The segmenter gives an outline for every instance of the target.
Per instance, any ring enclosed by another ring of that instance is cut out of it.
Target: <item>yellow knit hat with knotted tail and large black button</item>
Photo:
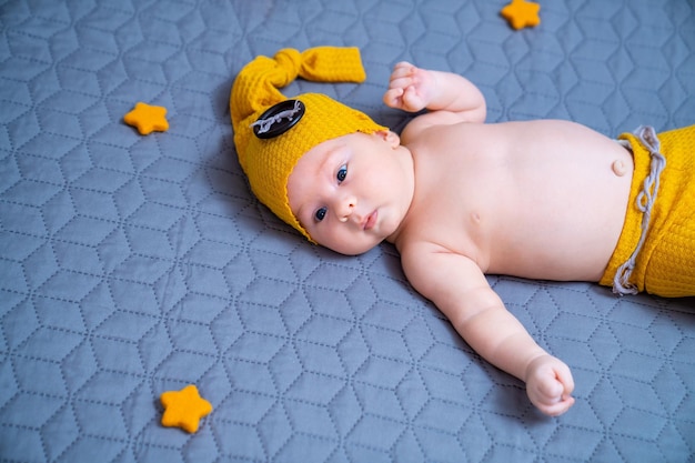
[[[232,85],[230,111],[239,162],[258,199],[313,242],[288,199],[288,179],[313,147],[355,132],[387,130],[366,114],[325,94],[304,93],[288,100],[278,89],[296,77],[318,82],[363,82],[356,48],[318,47],[280,50],[258,57]]]

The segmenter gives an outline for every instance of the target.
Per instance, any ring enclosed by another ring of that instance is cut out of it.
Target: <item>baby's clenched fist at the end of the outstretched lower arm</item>
[[[542,355],[526,369],[526,394],[543,413],[557,416],[574,405],[570,368],[552,355]]]

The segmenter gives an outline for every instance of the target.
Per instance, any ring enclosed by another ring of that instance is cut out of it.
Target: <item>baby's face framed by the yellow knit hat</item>
[[[412,184],[410,152],[395,133],[352,133],[306,152],[290,174],[288,195],[314,241],[352,255],[397,230],[410,208]]]

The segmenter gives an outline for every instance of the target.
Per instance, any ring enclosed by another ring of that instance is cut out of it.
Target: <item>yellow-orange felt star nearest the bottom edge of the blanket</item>
[[[164,392],[160,401],[164,406],[162,425],[178,426],[190,433],[198,431],[200,419],[212,412],[212,405],[200,396],[194,384],[181,391]]]

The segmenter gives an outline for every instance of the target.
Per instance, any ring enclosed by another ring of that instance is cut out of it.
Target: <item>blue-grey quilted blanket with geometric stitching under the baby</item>
[[[465,74],[491,121],[695,122],[693,0],[0,0],[1,462],[695,461],[695,300],[490,276],[573,369],[542,416],[384,244],[316,248],[251,194],[229,92],[258,54],[356,46],[298,81],[396,131],[393,64]],[[169,130],[123,123],[138,101]],[[695,153],[694,153],[695,155]],[[160,394],[195,384],[195,433]]]

